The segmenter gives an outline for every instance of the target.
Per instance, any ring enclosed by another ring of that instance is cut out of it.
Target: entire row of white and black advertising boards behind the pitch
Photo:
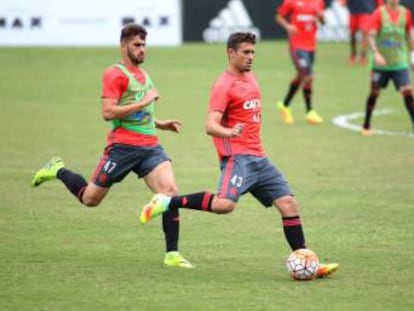
[[[320,41],[348,40],[348,11],[326,0],[327,25]],[[262,39],[284,39],[275,24],[282,0],[1,0],[0,46],[116,46],[119,30],[136,22],[150,32],[148,45],[223,42],[248,30]],[[414,0],[401,0],[414,12]]]

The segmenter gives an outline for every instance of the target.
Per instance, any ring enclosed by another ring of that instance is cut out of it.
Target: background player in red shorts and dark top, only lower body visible
[[[376,6],[383,4],[383,0],[340,0],[349,10],[349,42],[350,56],[349,62],[357,62],[357,33],[361,34],[361,47],[359,50],[359,62],[367,63],[368,33],[371,22],[371,13]]]

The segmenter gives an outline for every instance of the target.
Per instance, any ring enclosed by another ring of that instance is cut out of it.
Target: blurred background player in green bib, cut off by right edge
[[[366,102],[362,134],[369,136],[371,117],[381,88],[392,80],[401,92],[414,129],[414,106],[410,77],[410,63],[414,68],[414,40],[412,14],[400,0],[385,0],[372,15],[369,45],[374,54],[371,71],[371,91]]]

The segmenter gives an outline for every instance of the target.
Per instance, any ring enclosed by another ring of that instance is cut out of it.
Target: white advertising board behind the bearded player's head
[[[182,43],[180,0],[1,0],[0,46],[115,46],[128,22],[148,45]]]

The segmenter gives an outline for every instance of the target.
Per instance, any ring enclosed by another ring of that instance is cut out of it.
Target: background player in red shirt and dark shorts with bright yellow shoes
[[[323,122],[322,117],[312,107],[312,68],[317,23],[324,23],[323,11],[323,0],[284,0],[276,12],[276,22],[287,32],[290,55],[296,68],[296,75],[289,84],[284,100],[277,103],[280,116],[287,124],[294,122],[290,104],[300,87],[303,88],[306,120],[311,124]]]

